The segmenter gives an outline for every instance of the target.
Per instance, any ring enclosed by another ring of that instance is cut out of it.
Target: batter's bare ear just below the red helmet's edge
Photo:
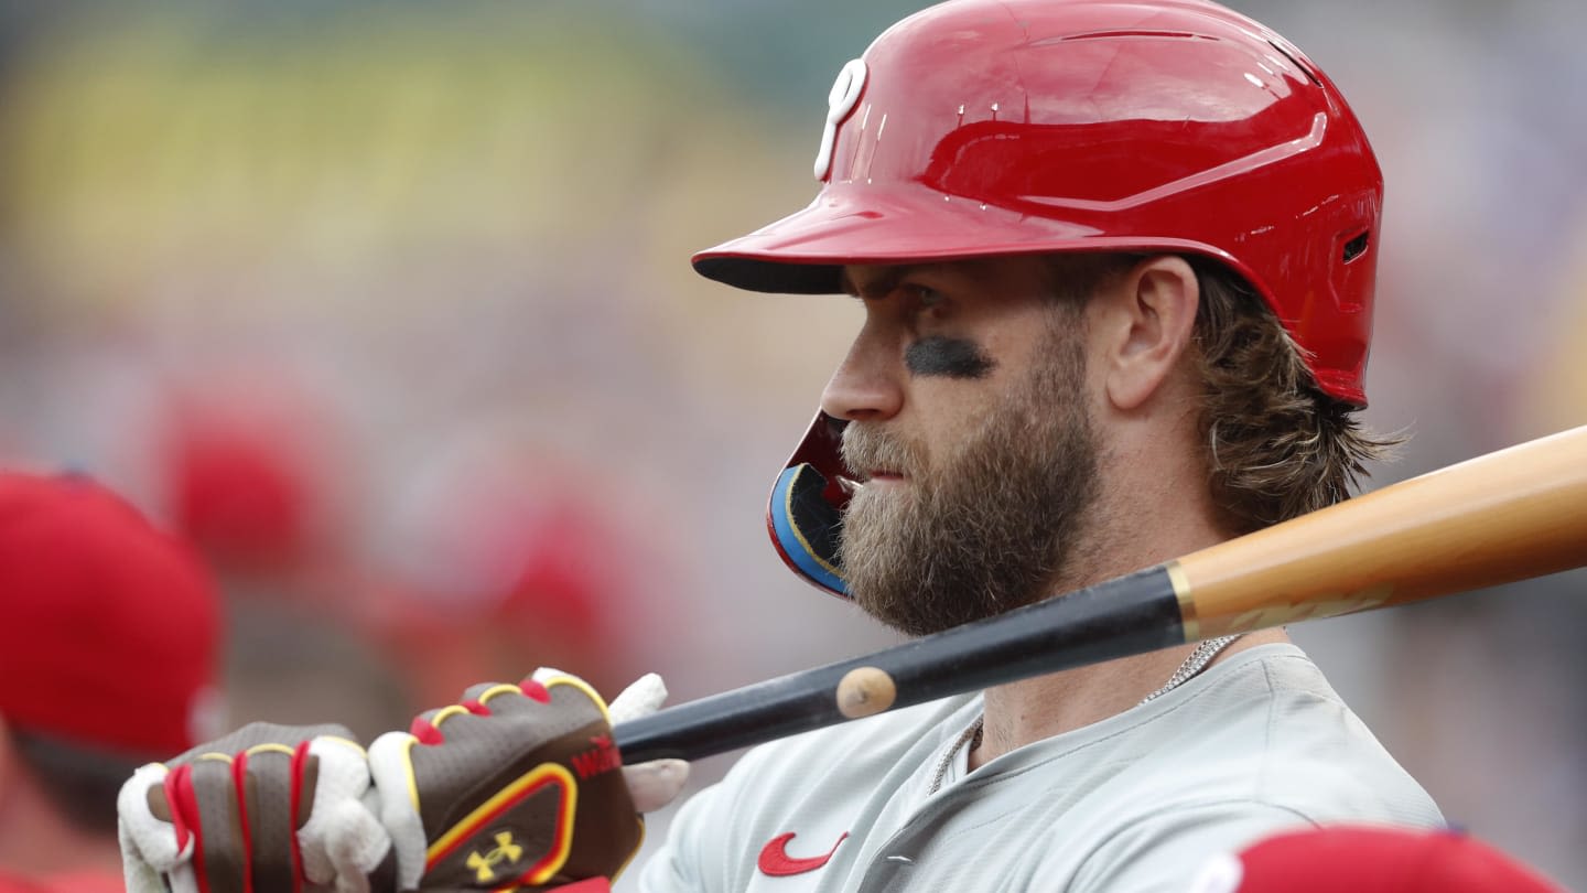
[[[1108,400],[1130,412],[1179,367],[1195,329],[1201,288],[1184,257],[1159,254],[1130,269],[1092,302],[1093,362]]]

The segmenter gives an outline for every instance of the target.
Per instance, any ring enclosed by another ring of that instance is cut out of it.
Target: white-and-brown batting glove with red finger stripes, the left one
[[[341,726],[244,726],[122,785],[127,890],[390,890],[390,836],[371,806],[363,748]]]

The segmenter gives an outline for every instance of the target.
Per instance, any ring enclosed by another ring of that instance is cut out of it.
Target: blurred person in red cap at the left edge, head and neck
[[[0,893],[122,890],[125,775],[219,729],[208,569],[87,478],[3,472],[0,617]]]

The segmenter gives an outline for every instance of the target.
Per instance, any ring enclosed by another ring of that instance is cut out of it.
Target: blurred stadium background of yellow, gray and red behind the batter
[[[1232,5],[1385,172],[1366,416],[1414,437],[1376,485],[1587,423],[1587,6]],[[229,726],[368,739],[538,664],[686,701],[890,644],[762,526],[859,310],[687,257],[809,200],[833,75],[916,8],[8,3],[0,459],[202,545]],[[1452,821],[1576,888],[1584,585],[1293,629]]]

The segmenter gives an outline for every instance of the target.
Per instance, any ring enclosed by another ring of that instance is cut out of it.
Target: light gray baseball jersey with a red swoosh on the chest
[[[1217,852],[1438,807],[1293,645],[965,774],[981,696],[751,750],[682,806],[644,893],[1179,891]]]

